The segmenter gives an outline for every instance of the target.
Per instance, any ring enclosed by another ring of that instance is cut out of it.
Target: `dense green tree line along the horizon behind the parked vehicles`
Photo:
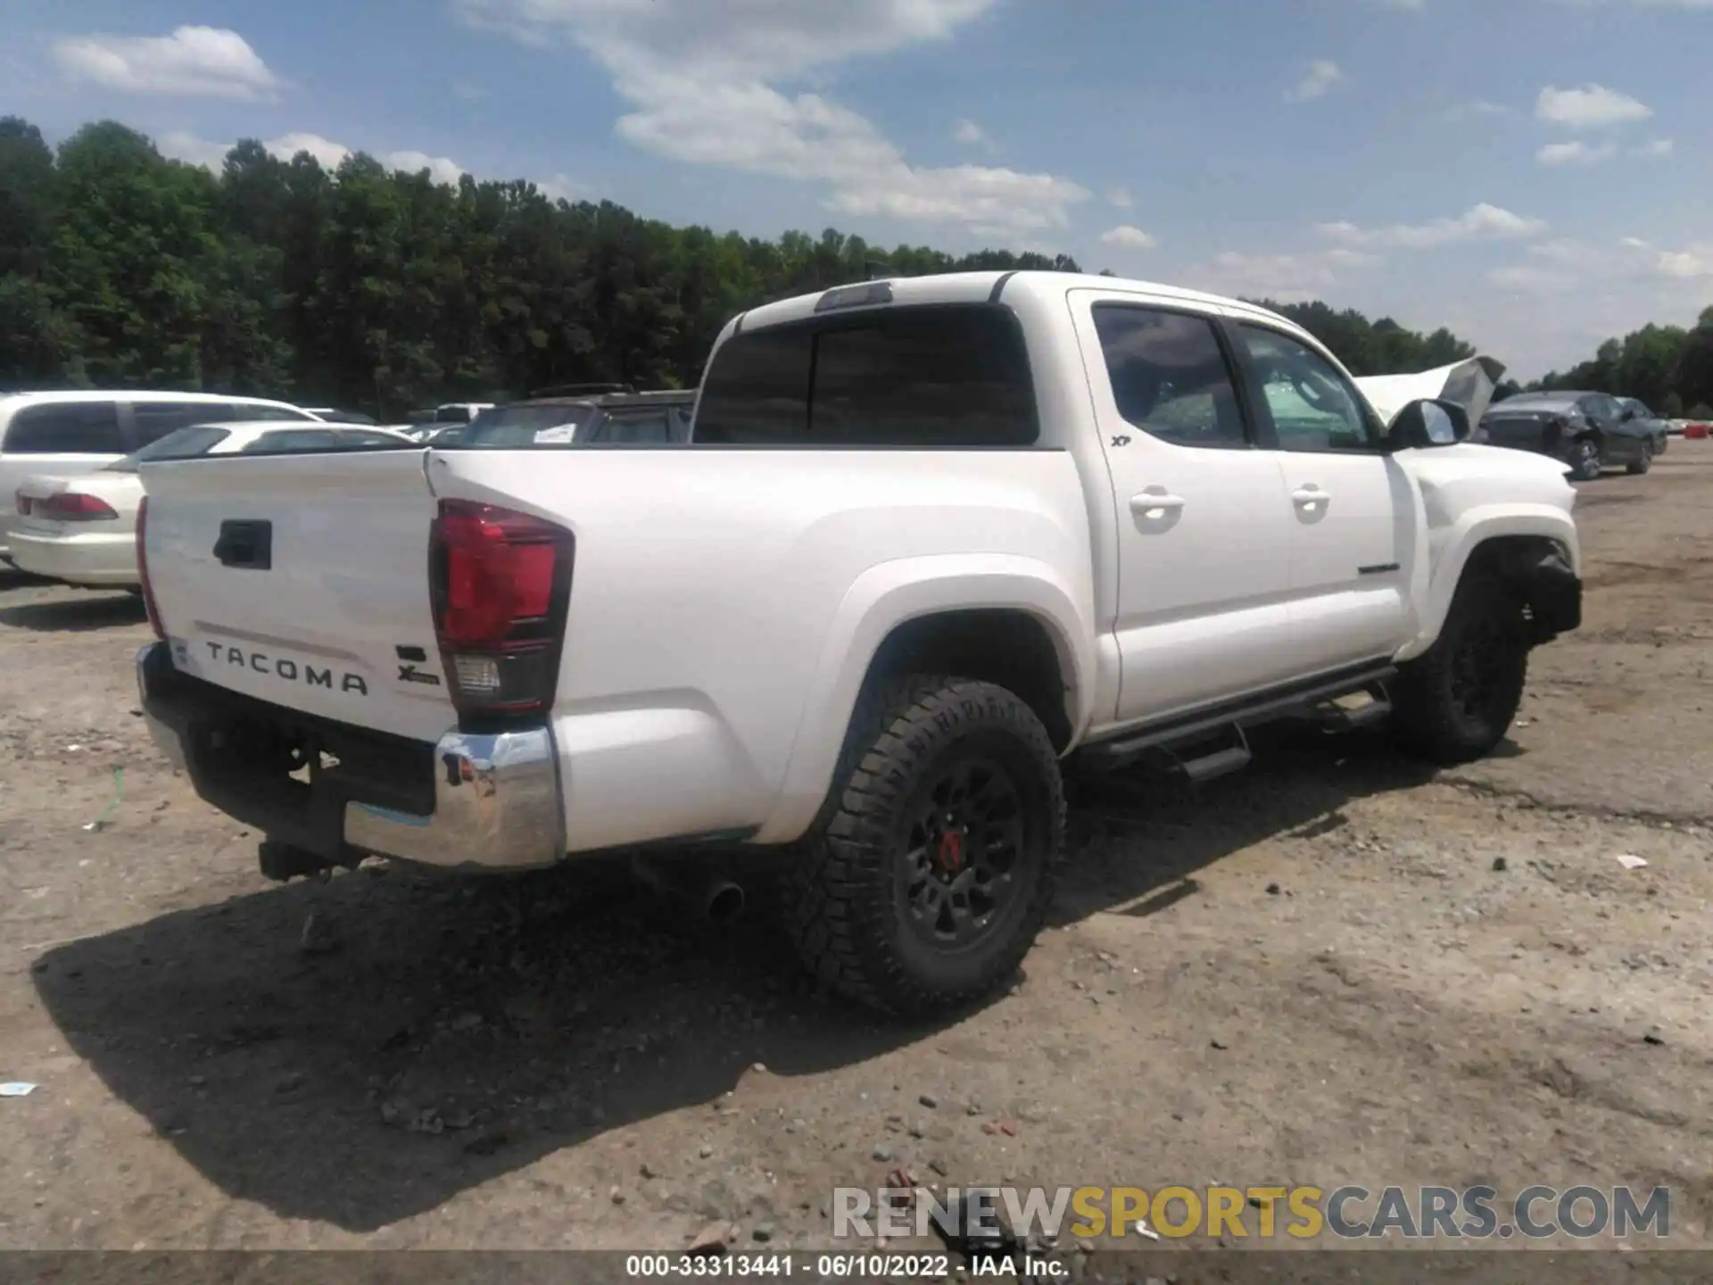
[[[677,228],[606,200],[552,200],[528,182],[466,175],[449,187],[361,154],[327,170],[257,140],[212,173],[115,122],[55,151],[29,122],[0,118],[10,389],[207,389],[397,418],[552,384],[687,387],[743,308],[872,274],[973,269],[1081,271],[1069,255],[882,250],[833,228],[778,240]],[[1357,375],[1475,353],[1446,329],[1418,334],[1317,302],[1268,307]],[[1629,341],[1607,363],[1612,379],[1639,379],[1646,363],[1627,353]],[[1667,365],[1674,380],[1694,367],[1680,355]]]

